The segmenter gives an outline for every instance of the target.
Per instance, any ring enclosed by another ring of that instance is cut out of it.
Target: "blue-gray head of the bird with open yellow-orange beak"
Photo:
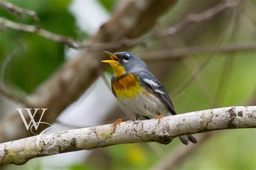
[[[117,53],[110,53],[109,54],[112,60],[104,60],[103,62],[110,63],[113,67],[114,72],[120,72],[122,67],[126,74],[138,72],[139,70],[146,69],[146,63],[140,59],[137,55],[130,53],[130,52],[117,52]]]

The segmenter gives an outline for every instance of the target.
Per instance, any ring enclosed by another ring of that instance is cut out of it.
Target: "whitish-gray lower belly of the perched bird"
[[[166,105],[153,93],[141,93],[133,98],[119,98],[119,101],[131,112],[140,116],[155,118],[161,114],[170,115]]]

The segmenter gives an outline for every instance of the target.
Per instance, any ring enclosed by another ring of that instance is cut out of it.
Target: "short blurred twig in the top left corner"
[[[6,1],[1,0],[0,1],[0,6],[9,10],[9,12],[11,12],[11,13],[16,13],[17,15],[19,15],[21,17],[23,17],[23,15],[28,15],[28,16],[31,16],[36,21],[39,20],[35,11],[20,8],[19,6],[16,6],[16,5],[14,5],[10,2],[6,2]]]

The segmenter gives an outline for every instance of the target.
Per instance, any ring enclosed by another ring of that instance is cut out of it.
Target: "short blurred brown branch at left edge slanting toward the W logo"
[[[19,97],[18,95],[12,93],[11,90],[9,90],[7,87],[5,87],[1,83],[0,83],[0,95],[2,95],[3,97],[8,98],[9,100],[11,100],[12,102],[15,102],[17,104],[22,104],[24,106],[29,106],[29,103],[26,102],[25,99],[23,99],[22,97]]]

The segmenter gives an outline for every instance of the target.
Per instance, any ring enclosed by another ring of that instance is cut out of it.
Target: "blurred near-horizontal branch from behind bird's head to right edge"
[[[195,47],[183,47],[174,49],[163,49],[160,51],[143,52],[140,56],[144,56],[144,60],[148,62],[174,60],[184,58],[190,55],[206,54],[206,53],[231,53],[241,51],[253,51],[256,49],[256,43],[252,44],[226,44],[208,45],[208,46],[195,46]]]

